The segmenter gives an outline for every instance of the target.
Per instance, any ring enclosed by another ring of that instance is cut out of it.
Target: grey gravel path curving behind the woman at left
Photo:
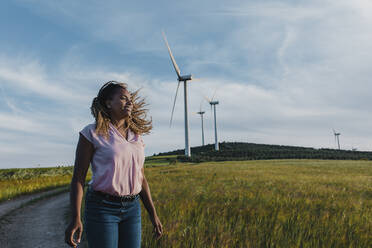
[[[0,220],[0,247],[68,247],[64,243],[68,208],[69,193],[64,192],[6,215]]]

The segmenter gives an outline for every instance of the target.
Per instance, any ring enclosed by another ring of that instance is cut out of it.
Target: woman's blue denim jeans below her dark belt
[[[89,187],[84,222],[89,248],[141,247],[139,196],[128,202],[110,201]]]

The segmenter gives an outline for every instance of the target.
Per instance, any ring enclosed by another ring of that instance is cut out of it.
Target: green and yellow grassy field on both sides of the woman
[[[153,239],[142,206],[143,247],[372,247],[371,161],[174,158],[146,160],[165,233]],[[67,171],[6,178],[1,170],[0,189],[7,181],[15,188],[33,179],[69,183]]]

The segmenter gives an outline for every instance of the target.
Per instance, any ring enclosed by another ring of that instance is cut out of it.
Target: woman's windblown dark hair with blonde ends
[[[139,90],[130,92],[126,83],[109,81],[105,83],[98,92],[97,97],[93,99],[90,110],[96,119],[96,132],[108,139],[108,130],[110,124],[110,111],[106,106],[106,101],[112,99],[118,89],[125,89],[131,95],[133,109],[131,115],[125,119],[125,131],[130,128],[135,134],[148,134],[152,129],[152,119],[147,120],[147,111],[144,107],[148,104],[141,98]]]

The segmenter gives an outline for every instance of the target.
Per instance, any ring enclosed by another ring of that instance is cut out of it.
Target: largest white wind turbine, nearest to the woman
[[[174,106],[176,105],[176,99],[177,99],[177,93],[178,93],[178,88],[180,87],[180,83],[183,82],[183,90],[184,90],[184,105],[185,105],[185,156],[190,157],[191,156],[191,150],[190,150],[190,143],[189,143],[189,120],[188,120],[188,113],[187,113],[187,81],[192,80],[192,75],[181,75],[181,71],[178,68],[178,65],[176,63],[176,60],[173,57],[172,51],[169,47],[167,37],[165,36],[165,33],[162,32],[163,38],[165,45],[168,48],[168,53],[169,56],[172,60],[172,64],[174,67],[174,70],[177,73],[177,79],[178,79],[178,85],[177,85],[177,90],[176,90],[176,95],[174,97],[174,102],[173,102],[173,108],[172,108],[172,115],[171,115],[171,120],[169,123],[169,127],[172,125],[172,119],[173,119],[173,112],[174,112]]]

